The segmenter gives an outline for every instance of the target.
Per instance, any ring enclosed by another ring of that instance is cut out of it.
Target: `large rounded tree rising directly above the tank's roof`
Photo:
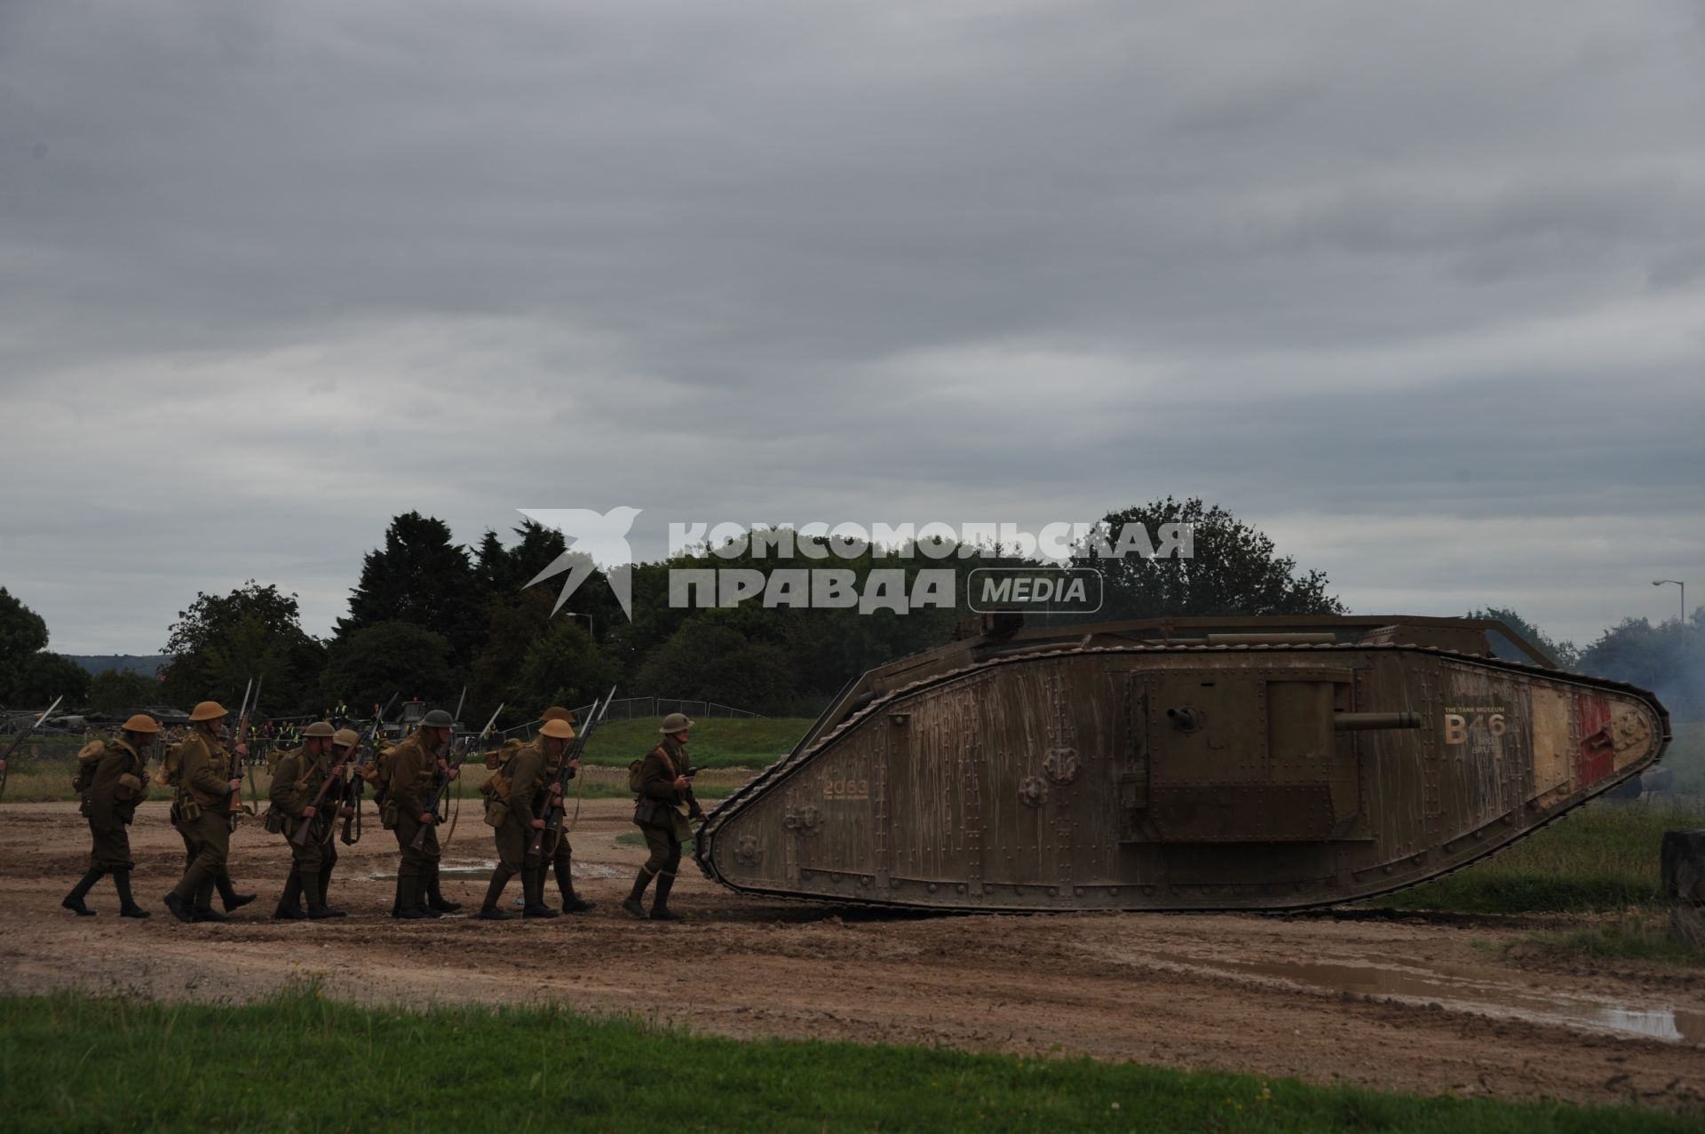
[[[1326,593],[1323,571],[1296,575],[1296,559],[1279,556],[1274,541],[1200,496],[1156,500],[1103,520],[1117,539],[1122,525],[1141,524],[1159,539],[1163,524],[1194,525],[1194,556],[1107,559],[1093,547],[1074,556],[1076,566],[1100,568],[1107,600],[1096,619],[1165,616],[1344,614]]]

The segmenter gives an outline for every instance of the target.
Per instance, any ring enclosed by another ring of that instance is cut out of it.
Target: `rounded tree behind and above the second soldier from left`
[[[295,595],[280,593],[252,578],[228,595],[196,593],[177,612],[165,639],[172,660],[160,692],[169,701],[194,704],[225,699],[235,709],[249,679],[263,682],[264,708],[315,709],[317,679],[326,648],[302,629]]]

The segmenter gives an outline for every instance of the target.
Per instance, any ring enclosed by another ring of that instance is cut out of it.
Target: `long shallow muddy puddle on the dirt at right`
[[[1642,1008],[1615,1001],[1557,996],[1512,987],[1504,974],[1468,965],[1413,962],[1373,965],[1344,962],[1248,962],[1153,953],[1153,960],[1180,969],[1286,981],[1304,987],[1361,996],[1381,996],[1415,1004],[1439,1004],[1482,1016],[1562,1023],[1572,1028],[1644,1035],[1676,1044],[1705,1044],[1705,1013]]]

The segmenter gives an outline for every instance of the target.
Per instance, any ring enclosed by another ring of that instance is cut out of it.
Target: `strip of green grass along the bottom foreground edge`
[[[501,963],[501,962],[500,962]],[[742,1042],[563,1008],[0,998],[7,1127],[1685,1131],[1632,1107],[1424,1098],[1089,1059]]]

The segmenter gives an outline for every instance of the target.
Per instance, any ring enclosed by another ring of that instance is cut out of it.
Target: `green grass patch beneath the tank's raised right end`
[[[1373,899],[1381,909],[1531,914],[1654,905],[1666,830],[1705,825],[1696,801],[1599,800],[1454,875]]]

